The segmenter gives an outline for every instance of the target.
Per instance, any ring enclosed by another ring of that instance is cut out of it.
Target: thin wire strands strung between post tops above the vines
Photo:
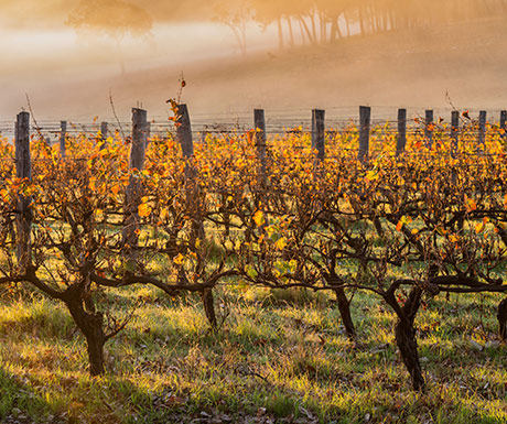
[[[370,119],[373,132],[381,134],[397,133],[397,109],[393,107],[374,106],[371,107],[374,116]],[[421,107],[407,108],[407,134],[414,135],[424,131],[425,119],[424,111]],[[434,115],[433,124],[445,128],[451,123],[450,117],[453,108],[435,108],[432,109]],[[357,108],[353,107],[330,107],[326,111],[326,132],[334,134],[336,132],[347,131],[359,126],[359,117]],[[492,126],[496,122],[501,124],[501,110],[488,109],[487,113],[490,117]],[[466,131],[474,131],[474,126],[478,123],[478,109],[467,109],[461,113],[460,123],[466,127]],[[477,118],[476,118],[477,117]],[[254,128],[254,116],[251,111],[247,112],[227,112],[204,115],[196,113],[192,116],[192,133],[196,141],[202,139],[204,134],[231,134],[242,133]],[[117,132],[130,134],[132,123],[128,119],[107,119],[108,135],[115,135]],[[87,137],[96,137],[100,131],[101,121],[68,121],[66,134],[69,137],[78,137],[86,134]],[[33,133],[44,137],[50,143],[57,142],[61,137],[61,121],[55,120],[39,120],[32,123]],[[312,130],[312,118],[308,109],[278,109],[267,111],[266,133],[271,137],[283,135],[288,132],[310,132]],[[461,131],[461,130],[460,130]],[[478,133],[478,128],[475,129]],[[150,133],[152,137],[166,137],[169,133],[175,132],[174,121],[170,117],[154,116],[150,118]],[[14,121],[0,121],[0,137],[12,139],[15,133]]]

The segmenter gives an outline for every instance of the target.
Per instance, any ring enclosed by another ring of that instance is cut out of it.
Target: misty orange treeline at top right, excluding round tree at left
[[[157,20],[213,19],[246,50],[247,23],[278,26],[280,47],[507,15],[507,0],[186,0],[141,2]]]

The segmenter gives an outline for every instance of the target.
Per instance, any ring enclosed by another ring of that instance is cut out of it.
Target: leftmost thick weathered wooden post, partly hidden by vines
[[[32,163],[30,156],[30,113],[21,112],[15,122],[15,176],[32,181]],[[30,211],[30,197],[18,196],[18,210],[15,218],[17,228],[17,256],[20,271],[26,271],[31,262],[30,231],[32,216]]]

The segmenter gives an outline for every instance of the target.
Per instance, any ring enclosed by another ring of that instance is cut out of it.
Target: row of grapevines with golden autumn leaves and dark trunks
[[[105,145],[67,139],[67,156],[32,141],[32,181],[15,177],[11,144],[0,143],[0,283],[28,283],[63,302],[87,341],[90,371],[105,371],[106,341],[128,325],[104,291],[154,285],[198,293],[219,328],[218,284],[309,287],[336,294],[348,337],[352,294],[367,291],[396,314],[396,343],[414,389],[424,379],[414,318],[440,293],[504,293],[507,286],[507,161],[504,133],[474,129],[453,146],[446,127],[422,132],[396,156],[389,126],[373,130],[368,162],[356,128],[330,132],[315,161],[310,135],[269,140],[267,173],[255,131],[208,135],[185,159],[168,134],[150,140],[143,170],[129,167],[119,137]],[[265,180],[266,177],[266,180]],[[129,220],[127,187],[140,187]],[[18,261],[17,199],[31,198],[31,254]],[[134,226],[136,242],[126,239]],[[505,305],[498,311],[506,336]]]

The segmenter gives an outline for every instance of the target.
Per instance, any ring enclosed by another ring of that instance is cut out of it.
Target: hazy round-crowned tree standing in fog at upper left
[[[104,33],[115,40],[119,52],[121,74],[125,74],[125,59],[121,42],[126,35],[147,35],[153,21],[140,7],[123,0],[80,0],[66,22],[78,30]]]

